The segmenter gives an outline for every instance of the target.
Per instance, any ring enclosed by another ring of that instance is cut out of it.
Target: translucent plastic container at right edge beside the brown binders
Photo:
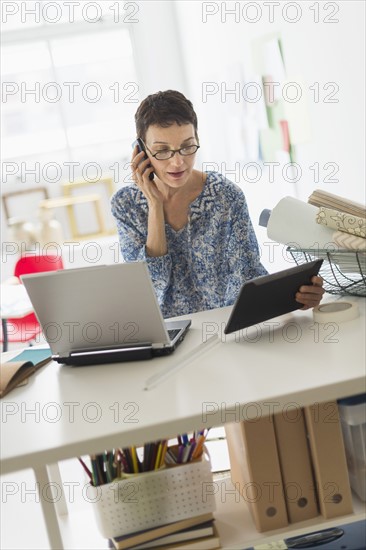
[[[338,401],[352,490],[366,502],[366,394]]]

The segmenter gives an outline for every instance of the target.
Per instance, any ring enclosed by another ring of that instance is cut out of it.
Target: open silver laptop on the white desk
[[[190,324],[164,321],[145,262],[23,275],[52,358],[67,365],[172,353]]]

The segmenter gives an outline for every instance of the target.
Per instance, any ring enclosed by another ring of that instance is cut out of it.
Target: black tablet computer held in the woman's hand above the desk
[[[323,260],[314,260],[244,283],[225,334],[301,309],[303,305],[295,300],[296,292],[302,285],[311,285],[311,278],[318,274],[322,263]]]

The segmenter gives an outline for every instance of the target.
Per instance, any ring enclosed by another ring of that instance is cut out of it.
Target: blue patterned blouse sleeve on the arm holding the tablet
[[[257,238],[242,192],[237,197],[233,209],[227,245],[228,284],[225,303],[231,305],[245,281],[267,274],[267,270],[260,262]]]

